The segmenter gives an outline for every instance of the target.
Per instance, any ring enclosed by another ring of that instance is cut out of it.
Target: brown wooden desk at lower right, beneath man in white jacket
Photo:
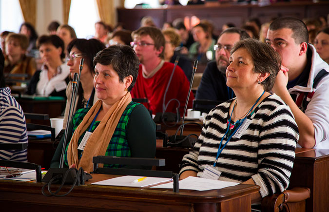
[[[308,187],[307,212],[325,212],[329,208],[329,150],[309,149],[296,154],[290,176],[290,188]]]

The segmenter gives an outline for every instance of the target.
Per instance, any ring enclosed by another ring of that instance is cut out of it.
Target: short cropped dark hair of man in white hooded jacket
[[[302,42],[309,42],[309,33],[305,23],[302,20],[291,17],[279,18],[275,19],[269,27],[271,31],[283,28],[288,28],[292,30],[291,37],[295,40],[296,44],[301,44]]]

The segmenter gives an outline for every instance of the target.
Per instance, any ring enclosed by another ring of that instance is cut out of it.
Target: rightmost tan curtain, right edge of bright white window
[[[106,24],[115,26],[116,7],[112,0],[96,0],[99,18]]]

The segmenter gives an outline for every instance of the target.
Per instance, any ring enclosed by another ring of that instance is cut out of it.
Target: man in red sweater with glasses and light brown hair
[[[132,36],[134,39],[132,46],[139,58],[140,65],[131,95],[133,98],[147,98],[149,102],[144,103],[144,106],[153,114],[163,112],[164,93],[174,69],[173,63],[165,62],[163,59],[164,36],[155,27],[141,27],[135,30]],[[165,112],[176,113],[176,108],[179,107],[180,116],[183,115],[189,87],[189,80],[182,69],[176,66],[164,100]],[[188,108],[192,108],[193,99],[194,96],[191,92]]]

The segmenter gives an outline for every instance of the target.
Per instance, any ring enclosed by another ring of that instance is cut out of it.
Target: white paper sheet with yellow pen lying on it
[[[127,187],[146,187],[155,185],[158,183],[169,182],[172,178],[163,177],[146,177],[140,182],[133,183],[134,180],[142,178],[142,176],[120,176],[112,179],[107,179],[99,182],[92,183],[92,185],[102,185],[102,186],[127,186]]]

